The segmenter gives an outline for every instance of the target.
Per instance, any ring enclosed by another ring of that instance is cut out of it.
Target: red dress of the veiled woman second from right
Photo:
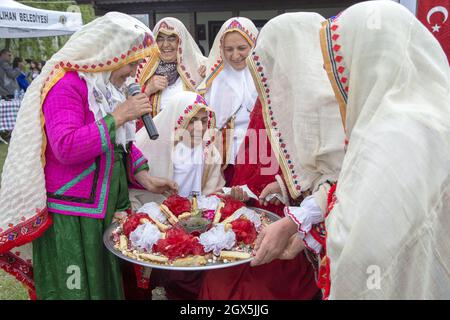
[[[259,99],[250,115],[249,131],[265,131],[262,108]],[[239,151],[239,155],[249,155],[249,135]],[[258,136],[258,150],[261,144],[265,144],[270,159],[276,162],[276,158],[270,147],[267,135],[263,139]],[[238,157],[239,157],[238,155]],[[238,164],[235,166],[235,174],[232,185],[239,186],[247,184],[256,195],[275,179],[275,174],[261,175],[261,170],[268,165],[261,164]],[[278,165],[277,165],[278,167]],[[278,170],[277,170],[277,173]],[[283,206],[269,204],[261,205],[259,201],[250,199],[248,206],[260,207],[283,216]],[[268,275],[275,275],[268,277]],[[288,285],[289,284],[289,285]],[[312,299],[318,293],[314,281],[314,271],[304,254],[300,254],[294,260],[275,260],[270,264],[259,267],[251,267],[249,264],[242,266],[218,269],[206,272],[200,299],[204,300],[272,300],[272,299]]]

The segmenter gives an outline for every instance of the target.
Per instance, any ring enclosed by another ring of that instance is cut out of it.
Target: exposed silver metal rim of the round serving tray
[[[260,209],[260,208],[254,208],[254,207],[248,207],[248,208],[252,209],[260,214],[265,213],[266,217],[270,220],[271,223],[281,219],[279,216],[277,216],[273,212],[270,212],[270,211],[267,211],[264,209]],[[218,261],[218,262],[213,262],[213,263],[207,263],[206,265],[203,265],[203,266],[188,266],[188,267],[176,267],[176,266],[171,266],[171,265],[161,265],[161,264],[151,263],[151,262],[147,262],[147,261],[139,261],[137,259],[133,259],[133,258],[130,258],[130,257],[122,254],[122,252],[120,252],[119,250],[114,248],[114,241],[113,241],[112,233],[113,233],[114,229],[116,229],[116,228],[117,228],[117,223],[112,223],[106,229],[105,233],[103,234],[103,243],[105,244],[106,248],[109,251],[111,251],[114,255],[116,255],[117,257],[119,257],[123,260],[126,260],[126,261],[134,263],[134,264],[138,264],[138,265],[141,265],[144,267],[148,267],[148,268],[165,269],[165,270],[179,270],[179,271],[202,271],[202,270],[212,270],[212,269],[234,267],[234,266],[238,266],[241,264],[249,263],[253,259],[253,258],[249,258],[249,259],[238,260],[238,261],[227,262],[227,263]]]

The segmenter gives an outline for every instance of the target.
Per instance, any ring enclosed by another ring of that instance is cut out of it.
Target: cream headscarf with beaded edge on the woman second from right
[[[247,59],[271,146],[294,199],[336,181],[344,157],[344,131],[320,52],[322,21],[305,12],[270,20]]]

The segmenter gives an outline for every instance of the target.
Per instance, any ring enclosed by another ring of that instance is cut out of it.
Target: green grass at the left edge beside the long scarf
[[[2,172],[3,162],[5,161],[8,146],[0,143],[0,173]],[[26,300],[28,299],[27,290],[14,277],[0,269],[0,300]]]

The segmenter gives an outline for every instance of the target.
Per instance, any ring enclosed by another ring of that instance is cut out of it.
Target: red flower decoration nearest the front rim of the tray
[[[158,240],[153,246],[153,251],[164,254],[170,260],[183,256],[205,254],[198,238],[177,227],[167,231],[166,238]]]

